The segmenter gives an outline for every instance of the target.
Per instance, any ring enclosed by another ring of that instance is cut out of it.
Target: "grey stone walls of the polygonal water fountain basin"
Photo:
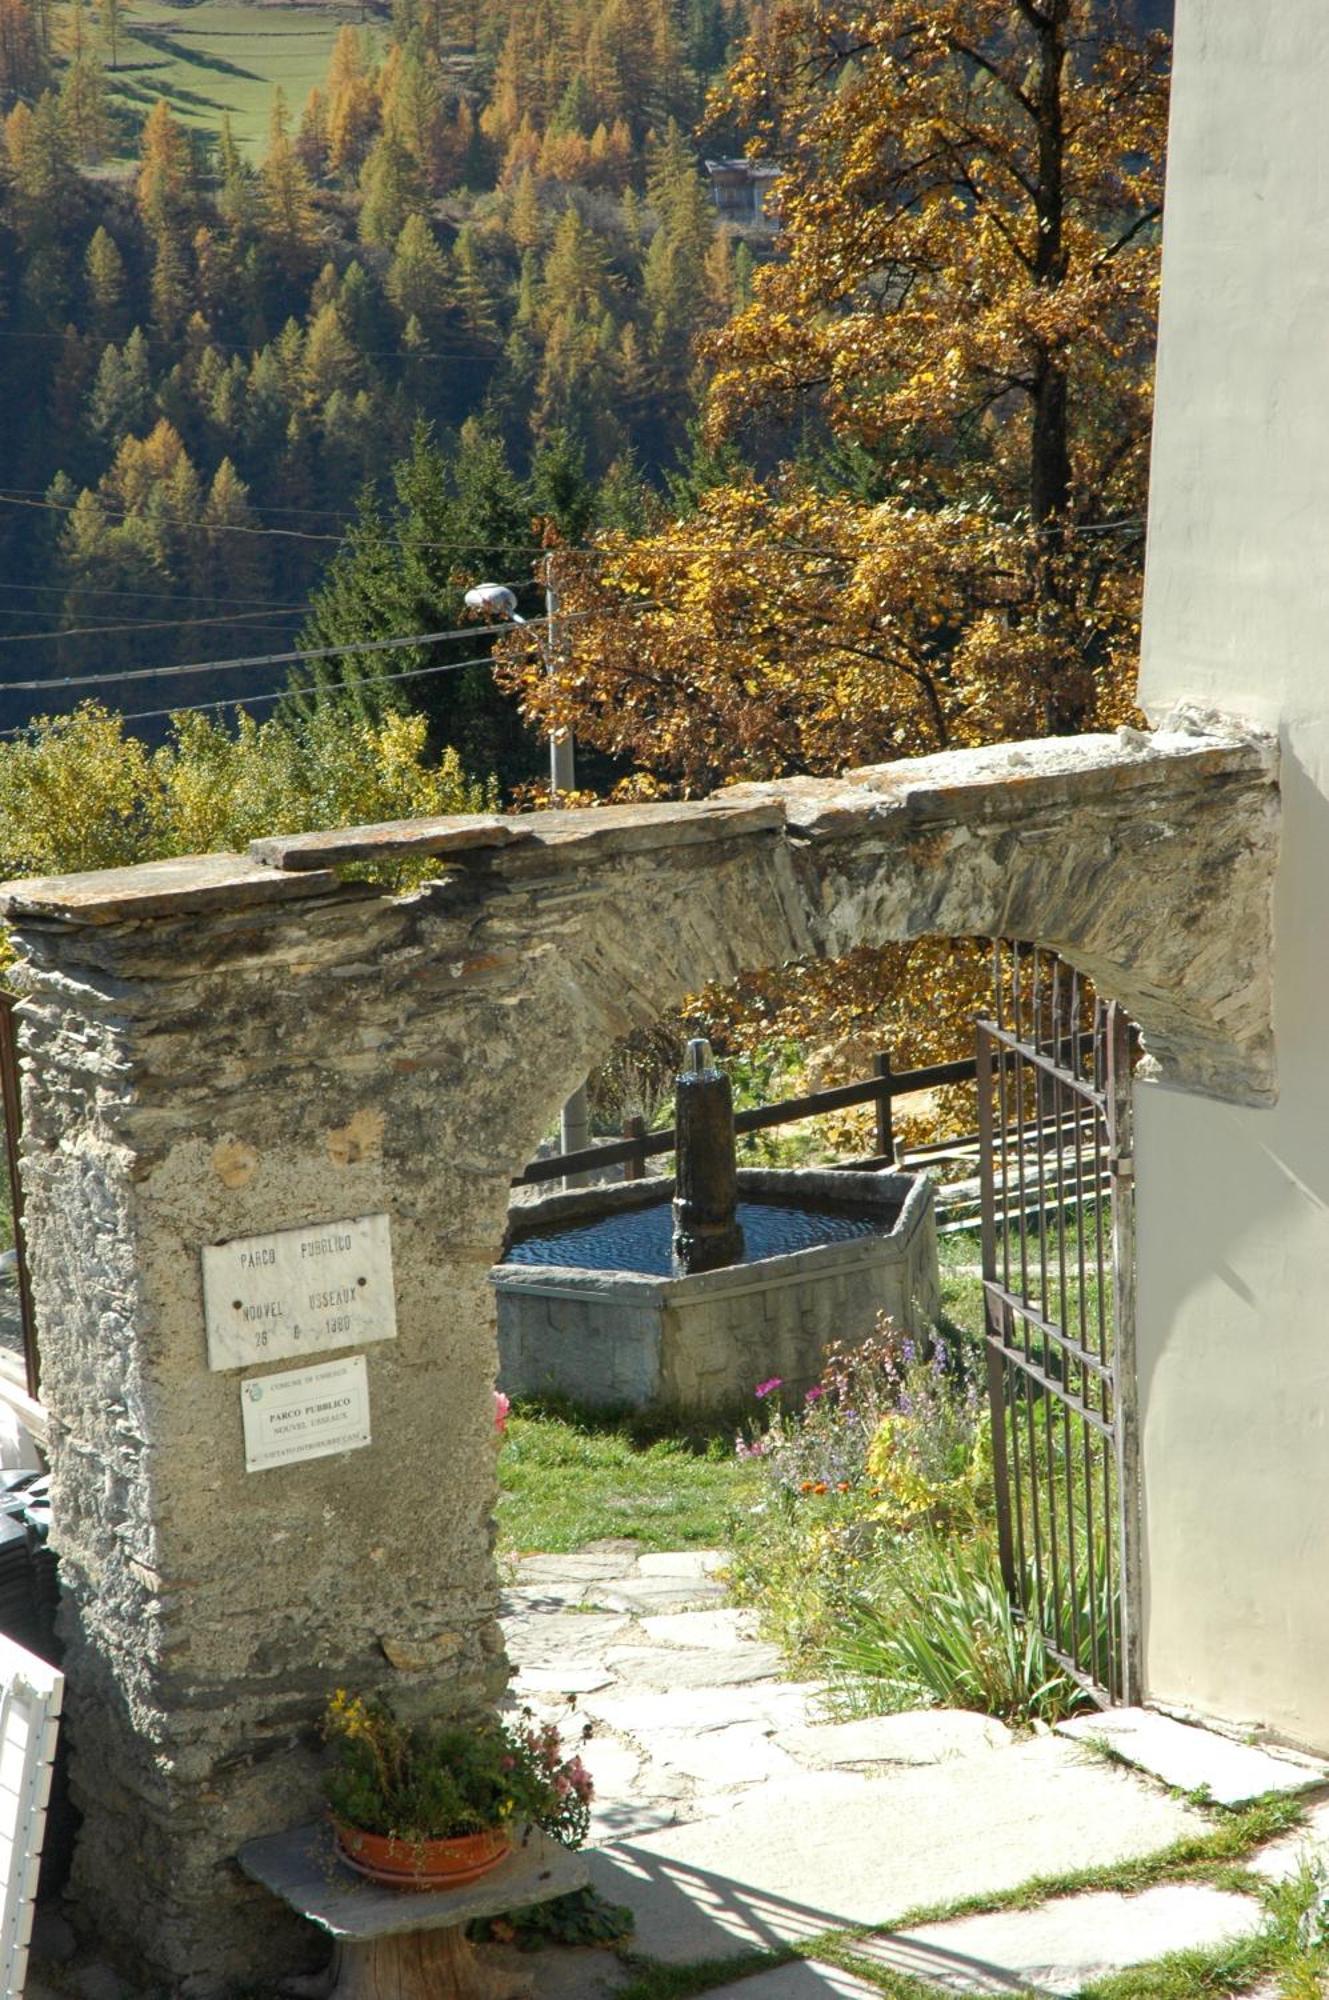
[[[514,1206],[508,1244],[669,1202],[667,1178],[572,1188]],[[741,1202],[869,1218],[869,1234],[689,1278],[512,1264],[490,1270],[498,1382],[508,1396],[592,1408],[715,1412],[781,1376],[809,1388],[833,1340],[859,1342],[889,1312],[923,1332],[939,1312],[933,1182],[923,1174],[741,1168]]]

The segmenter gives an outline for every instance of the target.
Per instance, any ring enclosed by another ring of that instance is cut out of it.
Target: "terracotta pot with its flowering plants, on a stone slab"
[[[342,1858],[374,1882],[442,1888],[494,1868],[530,1826],[580,1846],[590,1774],[552,1722],[416,1722],[338,1690],[324,1714],[334,1748],[328,1810]]]

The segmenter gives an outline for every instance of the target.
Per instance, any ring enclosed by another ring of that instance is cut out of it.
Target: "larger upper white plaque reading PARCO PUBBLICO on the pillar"
[[[396,1338],[386,1216],[232,1236],[202,1252],[208,1368],[252,1368]]]

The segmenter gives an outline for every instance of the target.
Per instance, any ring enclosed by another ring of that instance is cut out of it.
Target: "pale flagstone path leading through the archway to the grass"
[[[951,1710],[827,1720],[825,1688],[783,1680],[777,1650],[725,1602],[721,1566],[707,1550],[642,1556],[632,1542],[596,1542],[518,1560],[506,1592],[514,1702],[556,1720],[564,1740],[590,1726],[592,1882],[630,1906],[638,1964],[723,1960],[869,1926],[877,1934],[855,1952],[937,1994],[1069,1996],[1115,1968],[1261,1928],[1251,1896],[1165,1884],[891,1932],[923,1904],[1157,1852],[1207,1830],[1211,1814],[1109,1764],[1095,1744],[1047,1730],[1015,1736]],[[1135,1714],[1113,1734],[1141,1762],[1181,1758],[1189,1784],[1211,1770],[1225,1796],[1243,1796],[1243,1778],[1245,1796],[1329,1778],[1309,1760],[1247,1752],[1163,1718]],[[1253,1866],[1285,1874],[1307,1840],[1329,1856],[1329,1804],[1305,1836]],[[598,2000],[632,1976],[612,1952],[538,1952],[524,1968],[536,2000]],[[859,2000],[879,1988],[809,1960],[715,1992]]]

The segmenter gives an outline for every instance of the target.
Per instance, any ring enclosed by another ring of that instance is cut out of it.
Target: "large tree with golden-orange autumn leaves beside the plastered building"
[[[723,114],[783,256],[703,344],[697,504],[568,556],[528,714],[669,786],[1129,712],[1167,42],[1117,0],[777,0]]]

